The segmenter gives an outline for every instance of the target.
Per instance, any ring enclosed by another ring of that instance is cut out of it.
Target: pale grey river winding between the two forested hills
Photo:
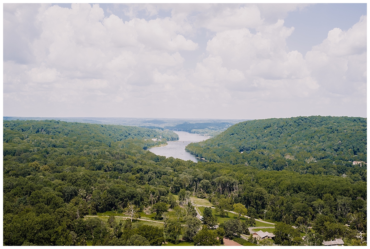
[[[177,141],[168,141],[166,146],[153,147],[148,150],[153,152],[156,155],[180,158],[185,161],[191,160],[193,162],[200,161],[195,155],[192,155],[190,152],[185,151],[186,145],[192,142],[200,142],[211,138],[209,136],[203,136],[199,134],[192,134],[186,131],[174,131],[179,135],[179,140]]]

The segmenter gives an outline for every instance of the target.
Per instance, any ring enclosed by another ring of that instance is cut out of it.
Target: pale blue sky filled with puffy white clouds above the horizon
[[[3,115],[366,117],[366,4],[3,4]]]

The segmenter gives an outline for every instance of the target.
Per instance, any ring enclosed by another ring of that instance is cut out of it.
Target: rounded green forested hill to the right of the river
[[[342,175],[353,161],[366,162],[366,132],[360,117],[270,118],[240,122],[186,149],[208,161]]]

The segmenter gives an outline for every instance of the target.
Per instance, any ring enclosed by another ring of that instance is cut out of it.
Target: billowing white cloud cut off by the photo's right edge
[[[319,80],[328,92],[348,96],[362,95],[366,85],[365,16],[348,31],[334,28],[323,43],[307,52],[306,61],[311,75]]]

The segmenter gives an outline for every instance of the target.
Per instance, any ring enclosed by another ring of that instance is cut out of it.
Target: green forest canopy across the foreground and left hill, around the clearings
[[[145,128],[4,121],[3,131],[4,245],[162,245],[178,243],[181,233],[197,245],[205,245],[205,237],[218,245],[216,237],[237,236],[230,228],[240,226],[238,219],[213,229],[212,212],[198,232],[189,196],[208,199],[221,216],[238,204],[252,218],[283,222],[277,228],[296,226],[294,238],[279,235],[275,242],[281,245],[366,240],[361,231],[366,232],[367,188],[361,178],[166,158],[143,149],[158,144],[149,138],[165,137]],[[112,213],[124,215],[130,208],[141,215],[149,210],[164,225],[115,221]],[[110,217],[84,218],[96,214]]]

